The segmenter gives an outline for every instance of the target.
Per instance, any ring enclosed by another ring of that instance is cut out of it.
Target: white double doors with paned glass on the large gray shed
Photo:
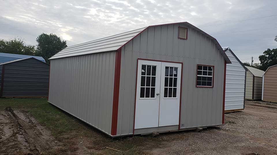
[[[138,61],[135,129],[179,125],[181,64]]]

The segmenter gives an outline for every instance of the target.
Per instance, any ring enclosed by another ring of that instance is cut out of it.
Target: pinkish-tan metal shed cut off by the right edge
[[[268,67],[263,74],[262,100],[277,102],[277,65]]]

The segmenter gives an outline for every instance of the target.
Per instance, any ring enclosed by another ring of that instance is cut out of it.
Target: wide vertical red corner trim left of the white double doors
[[[115,52],[115,79],[114,79],[114,87],[113,87],[113,114],[112,114],[111,135],[116,135],[117,133],[120,65],[121,65],[121,49]]]

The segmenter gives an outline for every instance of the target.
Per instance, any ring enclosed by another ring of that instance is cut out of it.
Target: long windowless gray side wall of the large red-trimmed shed
[[[111,134],[115,51],[52,59],[48,101]]]

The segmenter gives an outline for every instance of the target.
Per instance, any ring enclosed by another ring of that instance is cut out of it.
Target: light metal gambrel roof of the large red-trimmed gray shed
[[[199,28],[193,26],[192,24],[188,22],[179,22],[179,23],[170,23],[170,24],[162,24],[162,25],[171,25],[171,24],[186,24],[188,28],[192,28],[193,30],[197,31],[198,33],[206,36],[207,38],[211,39],[214,44],[216,45],[216,48],[220,51],[221,55],[224,57],[225,61],[227,63],[231,63],[230,59],[227,57],[225,52],[222,50],[222,47],[218,43],[218,41],[207,34],[206,32],[200,30]],[[92,53],[99,53],[99,52],[108,52],[108,51],[117,51],[121,47],[123,47],[125,44],[127,44],[129,41],[134,39],[137,35],[142,33],[144,30],[146,30],[149,27],[154,26],[162,26],[162,25],[152,25],[147,26],[144,28],[139,28],[136,30],[116,34],[113,36],[108,36],[101,39],[92,40],[89,42],[85,42],[82,44],[76,44],[73,46],[66,47],[59,53],[55,54],[50,59],[58,59],[63,57],[72,57],[77,55],[86,55],[86,54],[92,54]]]

